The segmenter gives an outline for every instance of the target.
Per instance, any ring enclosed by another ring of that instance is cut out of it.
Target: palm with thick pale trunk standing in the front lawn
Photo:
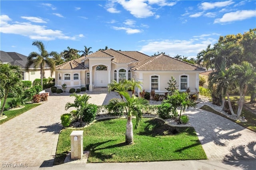
[[[136,117],[136,125],[135,128],[138,128],[138,125],[142,118],[142,113],[139,110],[139,108],[147,106],[148,101],[141,97],[136,97],[135,95],[132,95],[130,97],[129,93],[127,91],[119,91],[119,93],[124,96],[126,99],[120,100],[120,99],[110,99],[107,108],[109,111],[113,110],[114,107],[123,106],[128,109],[126,109],[127,113],[127,123],[126,123],[126,134],[125,134],[125,142],[127,144],[133,143],[133,125],[132,125],[132,116]]]

